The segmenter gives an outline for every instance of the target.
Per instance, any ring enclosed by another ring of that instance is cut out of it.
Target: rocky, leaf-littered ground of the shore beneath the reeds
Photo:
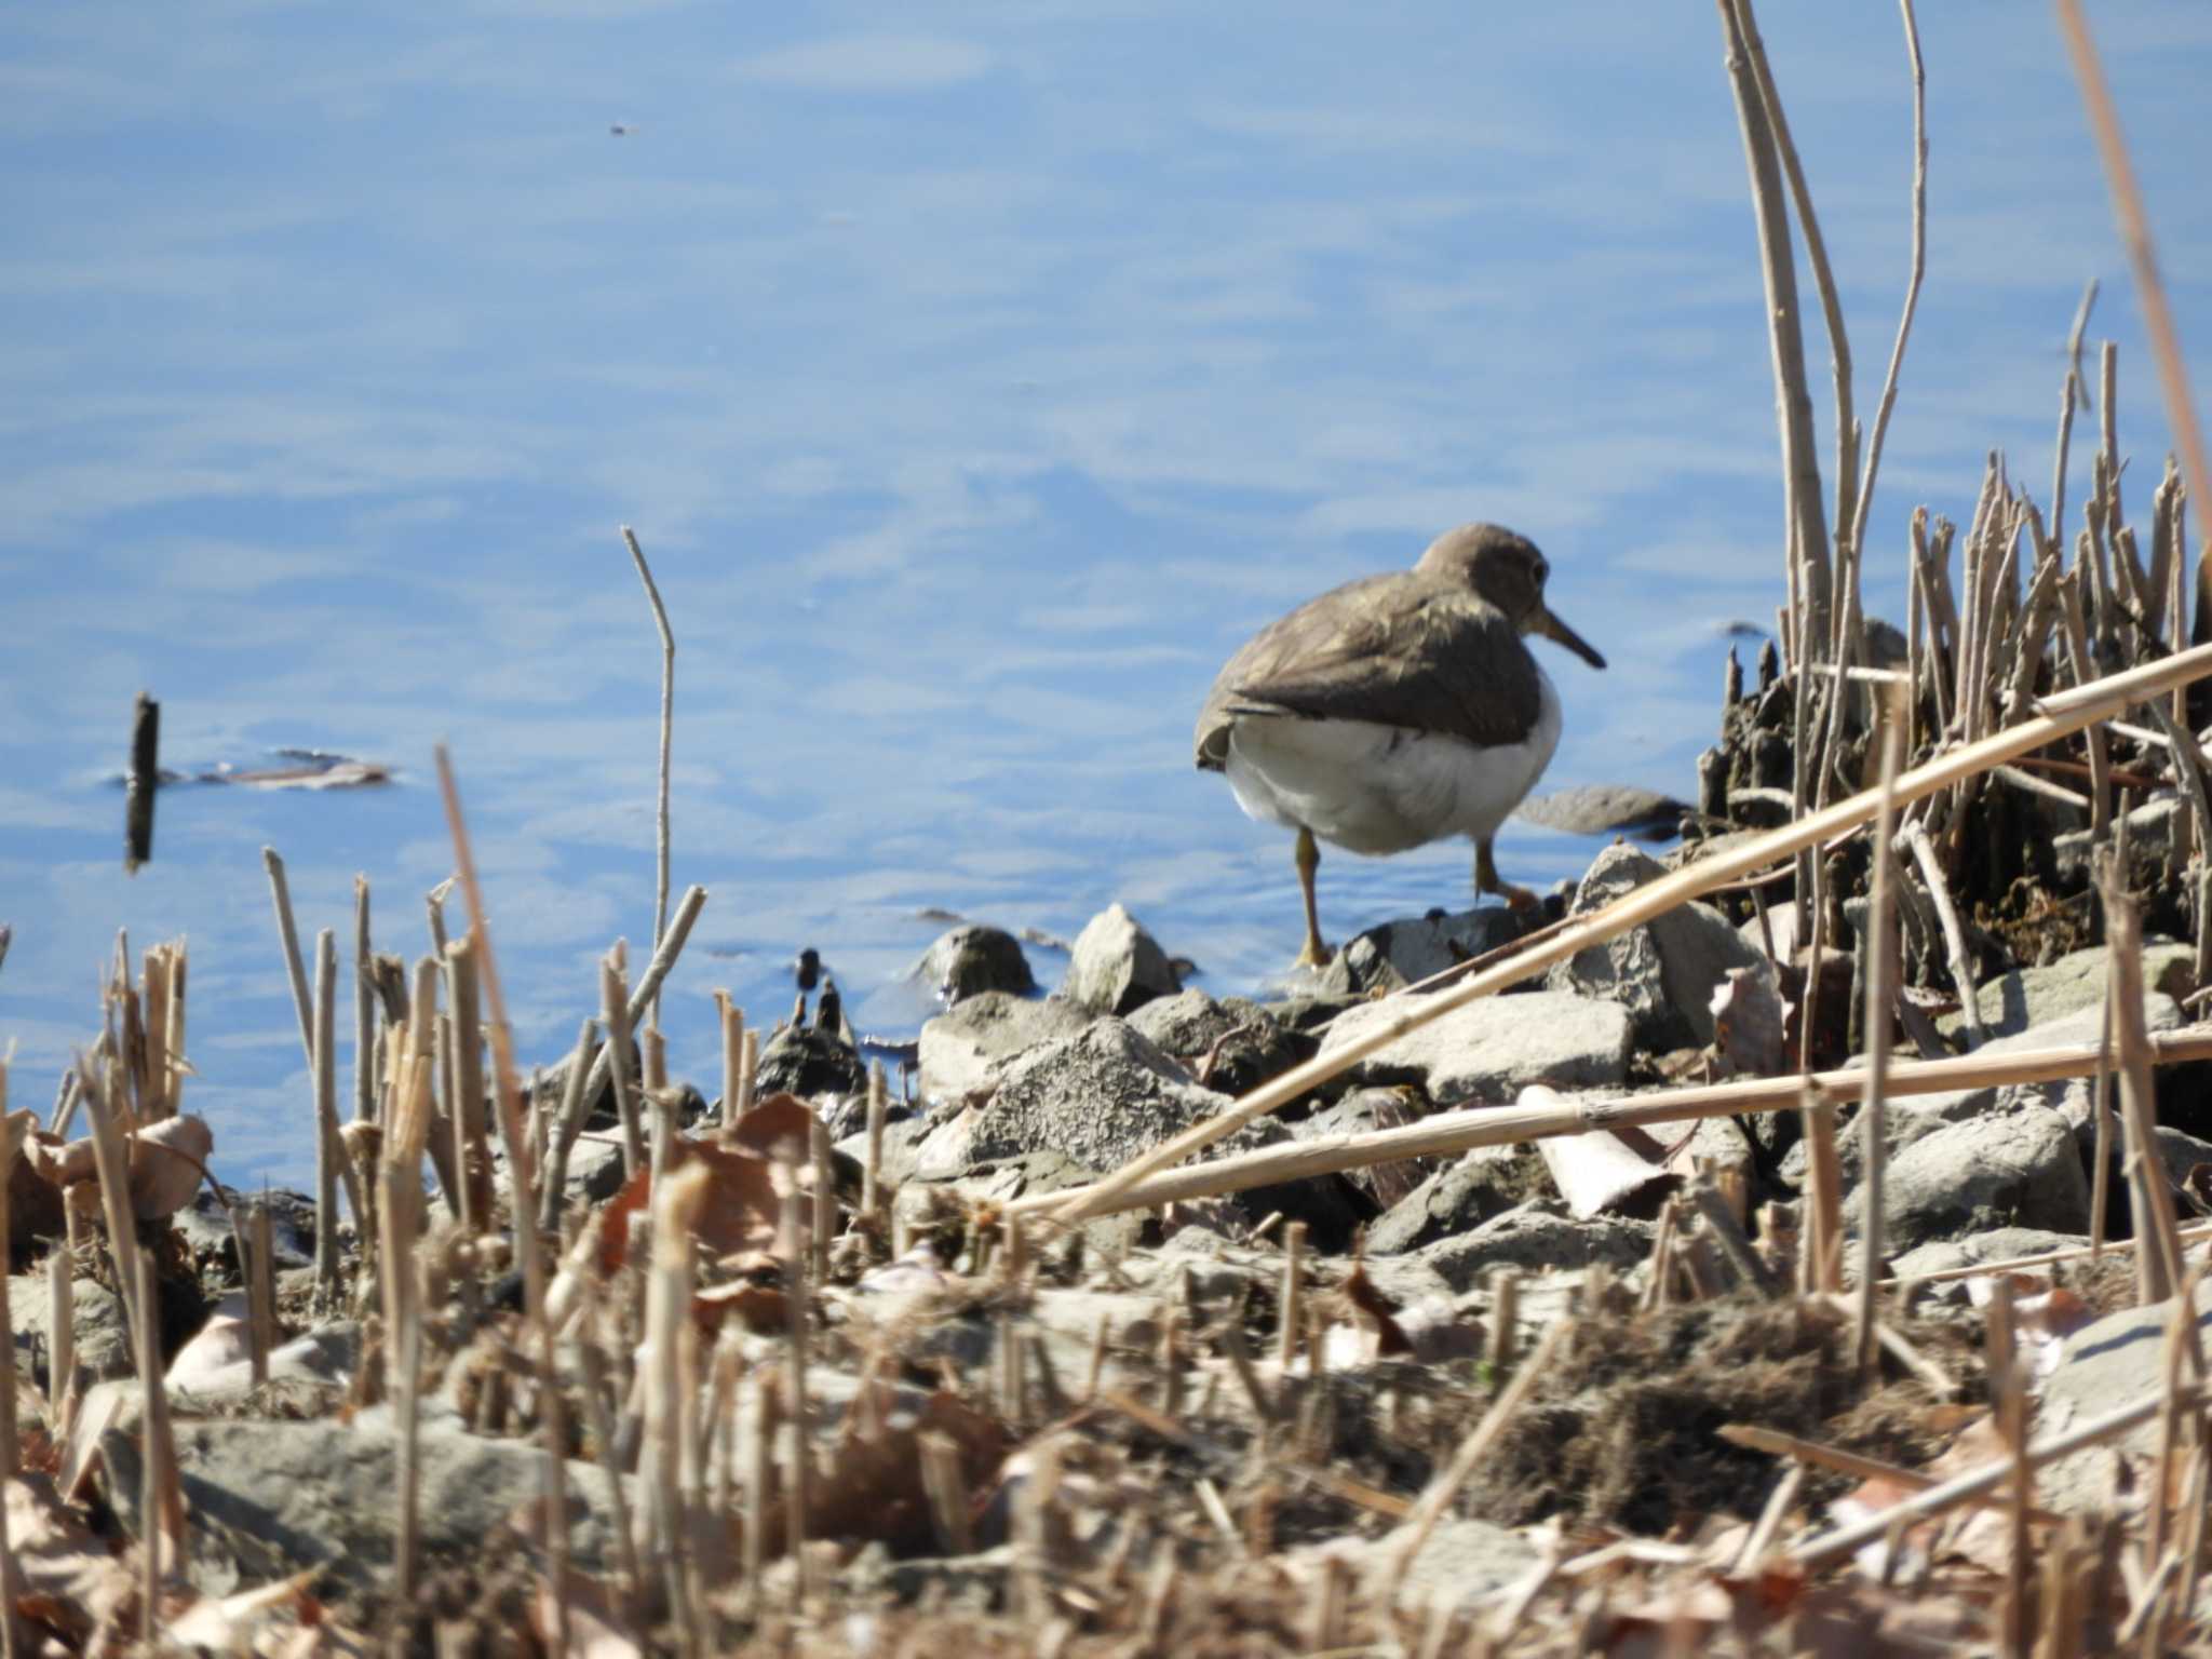
[[[434,1188],[403,1274],[349,1223],[319,1272],[312,1201],[270,1199],[261,1329],[239,1270],[252,1225],[208,1188],[161,1214],[139,1203],[161,1303],[153,1407],[97,1232],[73,1228],[71,1252],[51,1214],[38,1228],[42,1179],[97,1214],[84,1159],[71,1197],[73,1148],[18,1124],[13,1254],[46,1254],[9,1281],[29,1385],[9,1482],[22,1630],[51,1652],[115,1650],[155,1584],[161,1624],[237,1652],[1440,1652],[1478,1632],[1548,1652],[1632,1648],[1652,1619],[1761,1644],[1867,1619],[1964,1639],[1973,1595],[1900,1597],[1803,1548],[1991,1453],[1973,1402],[2002,1396],[1993,1285],[2044,1429],[2159,1396],[2161,1312],[2135,1305],[2121,1139],[2099,1141],[2095,1079],[1889,1102],[1893,1290],[1865,1369],[1827,1290],[1858,1276],[1860,1141],[1801,1135],[1834,1106],[1053,1217],[1053,1194],[1385,1035],[1407,987],[1661,876],[1615,845],[1553,894],[1553,918],[1387,922],[1272,1002],[1183,987],[1119,905],[1051,995],[1018,940],[956,929],[927,958],[947,1006],[898,1088],[869,1079],[834,989],[812,1011],[801,998],[750,1075],[732,1066],[734,1110],[655,1082],[644,1053],[580,1108],[549,1068],[524,1104],[538,1159],[564,1121],[577,1133],[555,1164],[544,1325],[515,1259],[511,1148],[482,1225]],[[1787,1071],[1761,1035],[1761,1013],[1783,1013],[1763,938],[1756,918],[1672,909],[1369,1044],[1201,1170],[1513,1102]],[[2146,1029],[2181,1031],[2192,951],[2152,942],[2139,962]],[[1991,978],[1975,1053],[2095,1042],[2106,978],[2106,947]],[[628,1110],[653,1119],[659,1181],[630,1168],[622,1077],[648,1084]],[[2212,1141],[2190,1133],[2201,1093],[2199,1066],[2163,1071],[2157,1150],[2181,1214],[2205,1210],[2212,1177]],[[396,1121],[378,1128],[387,1161]],[[378,1146],[347,1139],[369,1179]],[[1805,1243],[1823,1146],[1851,1232],[1834,1279]],[[2090,1256],[2099,1152],[2112,1243]],[[1991,1270],[2037,1256],[2057,1261]],[[398,1325],[394,1281],[418,1298]],[[653,1312],[661,1285],[688,1310],[677,1325]],[[396,1329],[420,1345],[414,1387]],[[533,1329],[555,1334],[551,1369]],[[2037,1484],[2053,1540],[2126,1524],[2141,1498],[2112,1511],[2115,1471],[2159,1455],[2148,1433]],[[566,1458],[557,1531],[549,1436]],[[148,1577],[179,1500],[175,1553]],[[1900,1531],[1922,1588],[1936,1564],[1944,1582],[1991,1575],[1993,1511],[1958,1513],[1940,1542],[1936,1522]]]

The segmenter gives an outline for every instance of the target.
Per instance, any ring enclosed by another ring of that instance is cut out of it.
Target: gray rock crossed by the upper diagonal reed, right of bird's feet
[[[1588,916],[1663,874],[1659,860],[1635,847],[1606,847],[1575,889],[1568,914]],[[1613,998],[1628,1009],[1646,1048],[1703,1048],[1712,1042],[1712,993],[1732,969],[1772,971],[1728,918],[1692,902],[1577,951],[1553,967],[1546,982],[1555,991]]]

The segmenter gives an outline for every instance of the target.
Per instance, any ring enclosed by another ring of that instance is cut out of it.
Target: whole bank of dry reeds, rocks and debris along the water
[[[1867,617],[1913,7],[1871,429],[1752,2],[1717,9],[1787,597],[1677,852],[1378,925],[1272,1002],[1183,989],[1119,905],[1046,998],[960,927],[918,1097],[807,971],[765,1029],[719,993],[692,1086],[659,1000],[708,894],[670,907],[677,641],[624,526],[655,938],[564,1057],[511,1051],[440,750],[429,956],[378,949],[367,876],[345,969],[303,949],[263,849],[314,1194],[210,1172],[181,945],[117,938],[44,1115],[0,1062],[4,1657],[2203,1648],[2212,482],[2148,219],[2059,0],[2181,453],[2130,518],[2084,294],[2048,500],[1991,456],[1969,524],[1907,515],[1905,626]]]

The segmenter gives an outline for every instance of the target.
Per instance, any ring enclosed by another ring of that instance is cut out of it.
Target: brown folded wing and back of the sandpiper
[[[1495,608],[1413,573],[1365,577],[1230,657],[1199,714],[1197,763],[1221,768],[1237,714],[1358,719],[1489,748],[1520,741],[1540,706],[1535,661]]]

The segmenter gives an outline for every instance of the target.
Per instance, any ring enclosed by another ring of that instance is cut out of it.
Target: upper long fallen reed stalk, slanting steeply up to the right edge
[[[2212,675],[2212,646],[2197,646],[2179,657],[2166,657],[2161,661],[2146,664],[2143,668],[2110,675],[2108,679],[2095,681],[2088,692],[2064,692],[2051,697],[2044,701],[2046,712],[2042,717],[2020,721],[2002,732],[1993,732],[1980,743],[1969,743],[1940,754],[1927,765],[1918,765],[1898,776],[1891,792],[1893,805],[1902,807],[1909,801],[1947,790],[1953,783],[1986,772],[1993,765],[2046,748],[2053,741],[2081,730],[2090,721],[2126,708],[2128,703],[2146,701],[2157,692],[2192,684],[2205,675]],[[1699,898],[1754,869],[1763,869],[1767,863],[1785,854],[1816,847],[1876,816],[1878,810],[1880,790],[1867,790],[1798,818],[1796,823],[1783,825],[1781,830],[1752,836],[1750,841],[1714,854],[1712,858],[1699,860],[1688,869],[1646,883],[1604,909],[1579,918],[1573,927],[1562,929],[1542,947],[1524,951],[1522,956],[1515,956],[1513,960],[1484,973],[1475,973],[1449,991],[1418,998],[1416,1006],[1400,1013],[1396,1020],[1378,1024],[1374,1031],[1340,1044],[1327,1055],[1292,1066],[1281,1077],[1274,1077],[1272,1082],[1243,1095],[1228,1110],[1194,1124],[1190,1130],[1175,1135],[1130,1159],[1104,1181],[1077,1188],[1075,1192],[1037,1194],[1033,1201],[1015,1201],[1013,1208],[1053,1208],[1062,1221],[1079,1221],[1091,1214],[1099,1214],[1097,1206],[1115,1201],[1155,1170],[1181,1164],[1192,1152],[1199,1152],[1256,1117],[1265,1117],[1279,1106],[1298,1099],[1310,1088],[1329,1082],[1338,1073],[1358,1064],[1367,1055],[1387,1048],[1407,1033],[1418,1031],[1420,1026],[1440,1020],[1469,1002],[1493,995],[1509,984],[1535,978],[1553,962],[1564,962],[1590,945],[1601,945],[1632,927],[1641,927],[1655,916],[1663,916],[1690,898]]]

